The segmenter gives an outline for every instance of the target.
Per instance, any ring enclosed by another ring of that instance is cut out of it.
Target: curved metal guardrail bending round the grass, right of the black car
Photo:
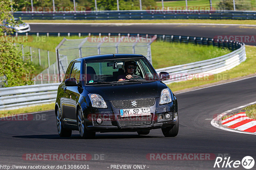
[[[220,57],[197,61],[182,65],[176,65],[171,67],[165,67],[156,69],[157,73],[161,71],[168,72],[170,79],[164,81],[165,83],[172,83],[177,81],[185,81],[188,78],[193,78],[196,74],[202,74],[201,76],[207,76],[217,74],[226,70],[229,70],[241,62],[246,60],[245,44],[235,41],[199,38],[199,37],[185,37],[185,36],[158,36],[158,39],[168,42],[180,42],[180,43],[195,43],[200,45],[212,45],[218,47],[226,47],[231,49],[232,52]]]

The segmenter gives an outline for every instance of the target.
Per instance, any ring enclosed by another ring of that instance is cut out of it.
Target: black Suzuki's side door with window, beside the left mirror
[[[70,78],[76,78],[76,82],[80,81],[80,67],[81,62],[74,62]],[[68,103],[65,105],[64,114],[67,117],[67,121],[70,124],[76,124],[76,103],[79,98],[78,94],[78,86],[67,86],[66,87],[67,99]],[[70,120],[69,120],[70,119]],[[73,123],[72,123],[73,122]]]

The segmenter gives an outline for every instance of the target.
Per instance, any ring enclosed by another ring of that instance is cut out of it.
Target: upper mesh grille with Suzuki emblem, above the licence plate
[[[111,101],[115,108],[138,108],[153,106],[155,98]]]

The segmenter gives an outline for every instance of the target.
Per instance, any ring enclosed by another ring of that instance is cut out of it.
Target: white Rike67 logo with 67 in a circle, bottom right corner
[[[230,157],[217,157],[214,163],[214,168],[238,168],[240,166],[243,166],[245,169],[251,169],[254,166],[254,159],[251,156],[245,156],[242,161],[240,160],[230,160]]]

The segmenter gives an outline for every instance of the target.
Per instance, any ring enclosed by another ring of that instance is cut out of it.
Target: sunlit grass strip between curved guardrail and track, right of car
[[[215,74],[210,77],[205,77],[205,80],[191,80],[191,81],[180,81],[168,84],[168,86],[173,91],[178,91],[182,89],[188,89],[192,87],[200,87],[206,84],[218,82],[221,80],[230,80],[237,77],[243,77],[250,74],[256,73],[256,47],[246,46],[246,57],[247,59],[240,65],[221,72],[220,74]],[[207,80],[207,78],[209,80]]]

